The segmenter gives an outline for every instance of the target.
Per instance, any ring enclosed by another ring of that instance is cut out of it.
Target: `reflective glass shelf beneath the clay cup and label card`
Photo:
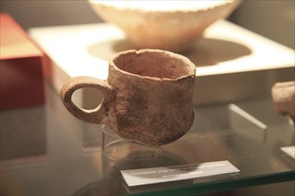
[[[102,153],[102,127],[64,109],[47,86],[45,106],[1,111],[1,193],[16,195],[180,195],[295,180],[294,126],[270,98],[196,106],[189,133],[151,151]],[[128,159],[128,157],[137,159]],[[140,159],[145,158],[145,159]],[[129,187],[124,169],[228,160],[238,173]]]

